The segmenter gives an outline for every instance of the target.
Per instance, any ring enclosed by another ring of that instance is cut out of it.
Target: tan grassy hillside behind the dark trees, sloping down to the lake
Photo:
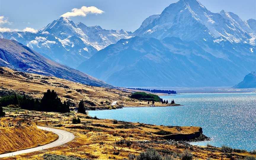
[[[57,92],[62,102],[71,101],[74,105],[78,105],[83,99],[87,102],[85,106],[91,109],[112,108],[113,101],[118,101],[114,107],[149,106],[147,101],[132,100],[129,98],[130,92],[119,89],[89,86],[52,76],[18,72],[4,67],[0,67],[0,82],[0,97],[15,92],[41,99],[44,92],[50,89]],[[169,106],[160,102],[154,105]]]

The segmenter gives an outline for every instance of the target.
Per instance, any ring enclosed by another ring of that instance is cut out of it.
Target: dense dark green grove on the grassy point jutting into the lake
[[[145,92],[135,92],[132,93],[131,98],[143,100],[143,101],[154,101],[154,102],[161,102],[162,99],[155,94],[147,94]]]

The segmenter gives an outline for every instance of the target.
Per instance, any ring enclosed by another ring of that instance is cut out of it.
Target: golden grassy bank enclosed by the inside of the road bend
[[[31,120],[5,117],[0,119],[0,154],[51,143],[58,138],[40,130]]]

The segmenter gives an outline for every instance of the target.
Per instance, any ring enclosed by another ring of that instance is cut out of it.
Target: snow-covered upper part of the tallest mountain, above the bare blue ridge
[[[248,22],[232,12],[210,12],[196,0],[180,0],[160,15],[148,17],[134,32],[136,36],[179,37],[182,40],[228,40],[255,45],[255,20]]]

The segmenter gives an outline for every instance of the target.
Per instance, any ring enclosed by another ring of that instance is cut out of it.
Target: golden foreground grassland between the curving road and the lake
[[[162,139],[163,135],[156,134],[159,131],[166,131],[171,134],[191,134],[198,132],[200,127],[168,127],[122,121],[118,121],[116,124],[115,120],[94,119],[80,113],[66,116],[53,112],[26,111],[26,114],[25,112],[19,112],[19,114],[17,112],[7,112],[7,116],[10,115],[20,118],[30,115],[29,119],[38,125],[67,130],[75,135],[75,139],[55,148],[4,159],[43,159],[44,154],[72,155],[87,159],[128,159],[129,154],[138,155],[147,148],[175,153],[181,153],[185,149],[189,149],[193,153],[194,159],[201,160],[205,160],[207,157],[211,157],[211,159],[221,159],[223,157],[224,160],[229,160],[228,155],[233,158],[250,155],[248,152],[224,154],[220,151],[220,148],[215,147],[187,147],[183,144],[156,143],[165,141]],[[73,117],[80,117],[81,124],[71,124]],[[119,143],[121,140],[130,142],[131,145]],[[151,141],[151,143],[141,143],[141,141]],[[119,155],[114,154],[117,152],[119,152]]]

